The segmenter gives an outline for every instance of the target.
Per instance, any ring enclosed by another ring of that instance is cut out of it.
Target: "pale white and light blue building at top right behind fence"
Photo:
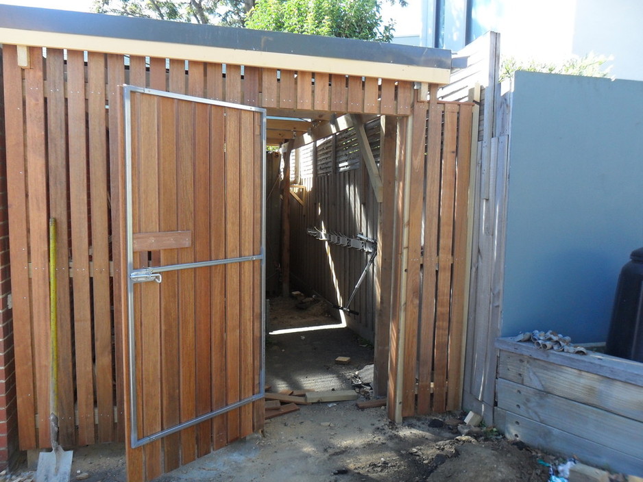
[[[385,6],[385,18],[389,12],[396,18],[393,42],[407,43],[415,34],[420,37],[417,45],[459,51],[487,31],[496,31],[502,36],[503,56],[558,62],[590,52],[612,55],[605,64],[611,66],[610,75],[643,80],[639,49],[633,48],[643,42],[639,0],[468,1],[409,0],[404,8]]]

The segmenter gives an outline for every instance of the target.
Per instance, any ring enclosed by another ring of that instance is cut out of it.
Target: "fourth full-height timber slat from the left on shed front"
[[[85,128],[84,55],[67,52],[69,137],[69,204],[73,263],[75,370],[78,407],[78,444],[95,442],[92,316],[89,285],[89,233],[87,210],[87,155]],[[118,352],[117,352],[118,355]]]

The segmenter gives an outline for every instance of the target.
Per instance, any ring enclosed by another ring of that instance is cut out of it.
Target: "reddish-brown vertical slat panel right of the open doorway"
[[[415,105],[413,138],[424,142],[413,143],[406,161],[404,269],[389,361],[396,420],[459,409],[461,401],[473,104],[433,94],[428,105]]]

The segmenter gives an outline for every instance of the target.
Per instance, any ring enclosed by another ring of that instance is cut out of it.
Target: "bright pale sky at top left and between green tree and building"
[[[385,20],[396,19],[396,35],[413,35],[420,33],[420,1],[408,0],[409,6],[402,8],[400,5],[389,5],[383,2],[382,16]],[[55,8],[57,10],[73,10],[76,12],[90,12],[93,0],[0,0],[6,5],[24,5],[26,7]]]

